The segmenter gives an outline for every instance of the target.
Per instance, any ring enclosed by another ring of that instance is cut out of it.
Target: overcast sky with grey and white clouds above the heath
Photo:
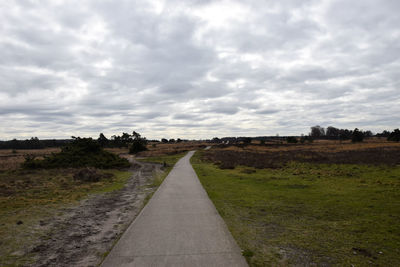
[[[0,3],[0,139],[373,132],[400,122],[400,1]]]

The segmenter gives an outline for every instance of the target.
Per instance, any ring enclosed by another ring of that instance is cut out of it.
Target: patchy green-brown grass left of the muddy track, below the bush
[[[74,169],[15,170],[0,172],[0,265],[29,263],[22,251],[40,236],[33,226],[59,215],[58,208],[77,203],[90,194],[121,189],[131,172],[107,170],[112,178],[96,183],[74,181]],[[22,224],[17,224],[21,221]]]

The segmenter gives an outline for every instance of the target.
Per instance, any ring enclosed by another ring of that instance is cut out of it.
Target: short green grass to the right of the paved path
[[[200,153],[193,167],[251,266],[400,266],[400,166],[221,170]]]

